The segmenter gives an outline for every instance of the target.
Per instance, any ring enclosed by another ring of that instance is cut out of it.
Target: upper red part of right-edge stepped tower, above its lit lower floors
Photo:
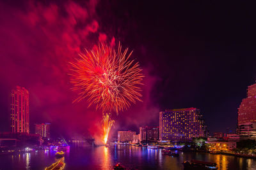
[[[247,97],[238,108],[238,125],[256,122],[256,83],[247,89]]]

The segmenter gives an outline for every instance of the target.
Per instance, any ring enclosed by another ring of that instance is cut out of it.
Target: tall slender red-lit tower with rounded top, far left
[[[24,87],[16,86],[11,97],[12,132],[29,133],[29,92]]]

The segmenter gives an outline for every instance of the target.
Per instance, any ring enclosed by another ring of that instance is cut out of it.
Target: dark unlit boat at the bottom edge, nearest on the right
[[[186,160],[183,165],[184,169],[218,169],[218,164],[201,160]]]

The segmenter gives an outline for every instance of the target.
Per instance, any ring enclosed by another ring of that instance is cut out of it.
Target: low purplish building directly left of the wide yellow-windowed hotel
[[[159,127],[140,127],[140,141],[157,141],[159,139]]]

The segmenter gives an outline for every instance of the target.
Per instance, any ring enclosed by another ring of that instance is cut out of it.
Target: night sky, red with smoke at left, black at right
[[[0,22],[0,131],[8,131],[8,97],[20,85],[30,93],[31,129],[50,122],[55,133],[97,133],[100,111],[72,104],[68,62],[99,41],[134,50],[145,74],[143,103],[113,114],[113,132],[158,125],[160,110],[188,107],[200,108],[210,132],[235,129],[256,80],[252,4],[3,1]]]

